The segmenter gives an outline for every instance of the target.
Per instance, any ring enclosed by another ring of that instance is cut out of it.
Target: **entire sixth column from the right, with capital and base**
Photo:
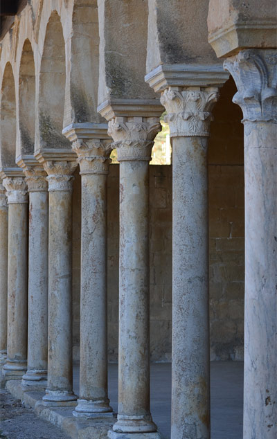
[[[42,165],[25,166],[29,192],[28,370],[22,385],[46,388],[48,327],[48,184]]]

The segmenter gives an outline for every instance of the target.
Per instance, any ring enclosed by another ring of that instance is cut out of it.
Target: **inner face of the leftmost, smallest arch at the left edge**
[[[7,62],[3,73],[0,114],[0,168],[3,170],[17,168],[15,165],[17,141],[15,79],[10,62]]]

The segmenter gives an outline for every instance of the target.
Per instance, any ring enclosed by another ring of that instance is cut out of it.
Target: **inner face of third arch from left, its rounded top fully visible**
[[[60,16],[51,13],[39,72],[39,148],[69,148],[62,135],[66,84],[65,47]]]

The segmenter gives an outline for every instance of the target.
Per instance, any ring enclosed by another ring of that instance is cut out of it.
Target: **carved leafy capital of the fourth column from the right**
[[[72,149],[78,156],[80,174],[108,174],[109,154],[111,154],[111,142],[96,138],[73,141]]]

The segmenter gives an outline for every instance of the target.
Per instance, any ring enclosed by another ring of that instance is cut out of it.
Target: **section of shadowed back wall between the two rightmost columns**
[[[208,150],[211,359],[242,360],[244,158],[240,107],[230,79],[220,93]]]

